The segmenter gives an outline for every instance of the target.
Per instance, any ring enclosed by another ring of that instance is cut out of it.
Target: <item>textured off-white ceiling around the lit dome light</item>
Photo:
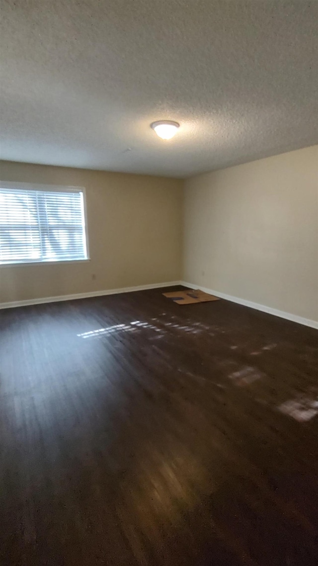
[[[3,159],[188,177],[318,141],[316,0],[1,7]]]

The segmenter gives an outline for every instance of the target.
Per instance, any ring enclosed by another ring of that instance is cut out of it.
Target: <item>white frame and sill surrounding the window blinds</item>
[[[11,261],[11,263],[0,263],[0,269],[8,267],[25,267],[25,265],[58,265],[58,264],[74,264],[74,263],[87,263],[91,260],[89,255],[89,239],[88,239],[88,225],[87,225],[87,204],[86,204],[86,188],[66,185],[46,185],[44,183],[21,183],[14,181],[0,181],[0,188],[8,188],[10,190],[25,190],[25,191],[50,191],[50,192],[81,192],[83,194],[83,217],[84,217],[84,233],[86,241],[86,255],[85,259],[58,259],[54,261]]]

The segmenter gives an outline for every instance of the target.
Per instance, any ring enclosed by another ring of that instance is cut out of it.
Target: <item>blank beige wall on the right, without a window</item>
[[[186,182],[184,281],[318,320],[317,146]]]

